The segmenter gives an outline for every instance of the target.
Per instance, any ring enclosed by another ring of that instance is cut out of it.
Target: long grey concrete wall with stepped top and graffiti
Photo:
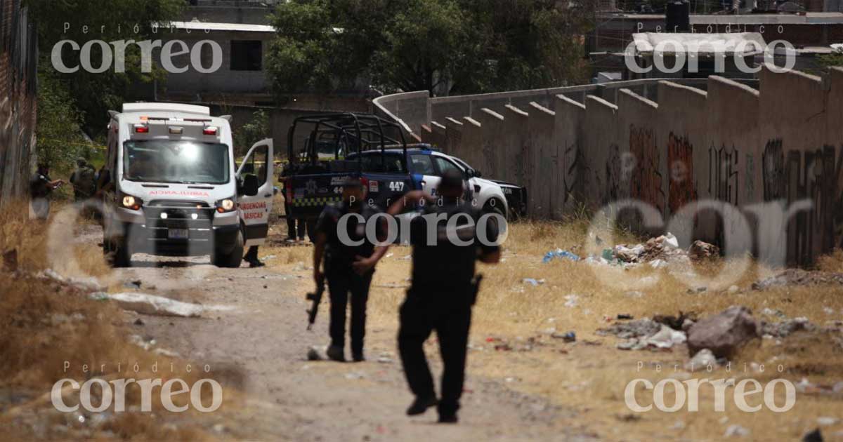
[[[712,76],[424,105],[445,121],[447,152],[527,186],[532,216],[631,199],[685,246],[704,239],[728,254],[809,264],[843,247],[843,69],[759,77],[758,88]]]

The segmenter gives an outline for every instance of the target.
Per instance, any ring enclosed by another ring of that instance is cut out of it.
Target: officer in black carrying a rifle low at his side
[[[314,244],[314,281],[328,278],[330,292],[330,346],[328,357],[345,360],[346,305],[349,292],[352,304],[352,359],[364,360],[363,337],[366,334],[366,302],[374,266],[384,256],[387,246],[378,247],[373,239],[383,241],[385,221],[373,220],[377,238],[367,237],[366,226],[380,210],[366,201],[366,188],[358,178],[343,184],[342,201],[328,205],[316,224]],[[380,222],[384,221],[384,222]],[[319,269],[325,256],[325,272]]]

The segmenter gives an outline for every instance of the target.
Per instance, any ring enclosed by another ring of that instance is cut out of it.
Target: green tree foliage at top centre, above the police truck
[[[291,0],[268,68],[278,93],[475,93],[582,82],[588,8],[556,0]]]

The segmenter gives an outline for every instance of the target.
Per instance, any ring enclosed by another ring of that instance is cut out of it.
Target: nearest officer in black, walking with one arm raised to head
[[[471,306],[477,295],[475,260],[495,264],[501,257],[498,224],[488,217],[481,221],[470,201],[462,199],[463,192],[462,173],[453,169],[439,183],[439,200],[413,191],[388,210],[389,215],[396,215],[405,205],[427,199],[421,216],[413,218],[410,226],[412,285],[400,307],[398,347],[407,382],[416,395],[407,414],[421,414],[438,404],[440,423],[457,422]],[[444,219],[434,221],[437,216]],[[435,228],[429,228],[431,223]],[[433,330],[444,364],[438,401],[422,349]]]

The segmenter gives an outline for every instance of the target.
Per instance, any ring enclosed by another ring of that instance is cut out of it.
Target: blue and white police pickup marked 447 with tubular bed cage
[[[296,131],[302,127],[310,136],[297,149]],[[333,159],[325,159],[325,140],[335,145]],[[287,216],[313,226],[325,205],[341,200],[346,177],[360,178],[368,189],[368,202],[381,208],[410,190],[421,189],[435,196],[442,174],[456,168],[468,182],[467,196],[486,212],[512,215],[503,186],[518,198],[523,189],[481,178],[480,173],[459,158],[437,152],[427,144],[405,142],[398,125],[368,114],[325,114],[300,117],[287,135],[287,171],[282,176]],[[315,146],[319,146],[317,149]],[[345,155],[341,155],[345,153]],[[525,200],[525,199],[524,199]],[[312,229],[309,228],[309,231]]]

